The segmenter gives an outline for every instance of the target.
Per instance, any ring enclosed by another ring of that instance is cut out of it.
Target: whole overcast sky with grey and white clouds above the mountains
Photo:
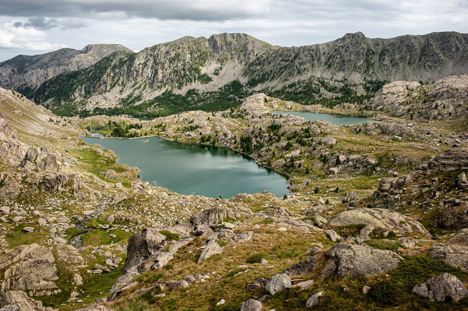
[[[1,0],[0,61],[90,43],[140,51],[182,36],[245,32],[274,45],[349,32],[468,33],[468,0]]]

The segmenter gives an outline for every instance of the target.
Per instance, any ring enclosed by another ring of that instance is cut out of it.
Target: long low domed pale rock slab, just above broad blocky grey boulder
[[[425,236],[431,236],[422,224],[411,217],[386,209],[355,209],[344,210],[332,218],[329,223],[334,226],[347,226],[348,224],[368,224],[374,228],[398,230],[402,233],[418,231]]]

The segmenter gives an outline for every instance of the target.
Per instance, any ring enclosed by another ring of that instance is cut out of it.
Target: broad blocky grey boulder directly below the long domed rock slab
[[[327,252],[329,259],[321,275],[380,275],[395,269],[401,257],[391,251],[373,249],[367,245],[338,243]]]

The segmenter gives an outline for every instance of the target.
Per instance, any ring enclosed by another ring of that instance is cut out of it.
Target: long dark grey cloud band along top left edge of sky
[[[7,16],[79,17],[123,12],[127,17],[160,20],[222,21],[260,16],[271,0],[3,0]]]

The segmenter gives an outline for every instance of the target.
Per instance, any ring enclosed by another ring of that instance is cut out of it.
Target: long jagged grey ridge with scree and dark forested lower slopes
[[[391,39],[347,34],[329,43],[278,47],[246,34],[183,37],[17,88],[61,116],[168,116],[236,107],[262,91],[302,104],[362,103],[394,80],[428,81],[467,71],[468,35]]]

